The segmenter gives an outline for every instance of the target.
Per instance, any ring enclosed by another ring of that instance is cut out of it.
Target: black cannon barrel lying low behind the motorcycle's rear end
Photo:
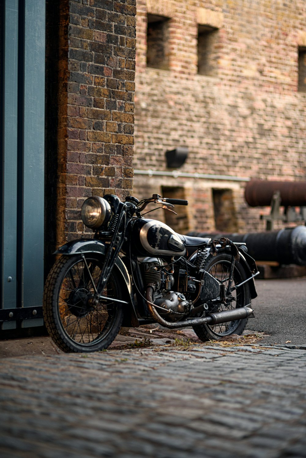
[[[189,232],[188,235],[211,237],[212,239],[220,239],[226,236],[233,242],[246,243],[247,252],[255,261],[276,261],[279,264],[306,266],[305,226],[250,234]]]

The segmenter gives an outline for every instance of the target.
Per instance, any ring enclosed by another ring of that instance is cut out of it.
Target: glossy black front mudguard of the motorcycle
[[[71,242],[66,243],[65,245],[60,246],[54,254],[61,254],[65,256],[73,256],[76,254],[83,253],[97,253],[99,255],[104,255],[106,253],[107,246],[104,242],[96,239],[79,239],[71,240]],[[122,326],[132,326],[138,327],[139,321],[135,311],[134,300],[132,298],[132,287],[131,287],[131,278],[127,271],[125,264],[121,261],[121,258],[118,256],[115,261],[114,273],[119,279],[120,287],[122,289],[124,299],[129,302],[129,305],[124,309],[124,319]]]

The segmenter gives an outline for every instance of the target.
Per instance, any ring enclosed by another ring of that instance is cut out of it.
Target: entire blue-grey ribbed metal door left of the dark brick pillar
[[[1,8],[0,323],[14,329],[43,324],[45,0]]]

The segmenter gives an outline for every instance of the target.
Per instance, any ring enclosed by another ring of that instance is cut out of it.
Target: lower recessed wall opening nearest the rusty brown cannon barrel
[[[213,189],[213,209],[216,230],[235,232],[238,222],[231,189]]]

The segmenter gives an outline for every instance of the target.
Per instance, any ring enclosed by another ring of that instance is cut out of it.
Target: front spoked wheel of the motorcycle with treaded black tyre
[[[44,288],[44,321],[55,344],[65,352],[92,352],[107,348],[123,320],[120,285],[113,275],[94,297],[103,258],[62,256],[52,267]],[[95,287],[94,287],[95,285]]]

